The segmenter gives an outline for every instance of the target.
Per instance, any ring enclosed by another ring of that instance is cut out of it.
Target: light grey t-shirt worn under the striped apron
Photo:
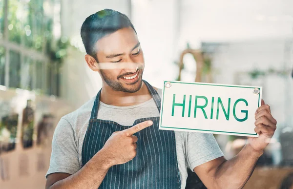
[[[158,93],[161,96],[162,89],[158,89]],[[54,132],[50,167],[46,177],[55,172],[74,174],[82,168],[84,136],[95,98],[61,118]],[[100,102],[98,111],[98,119],[111,120],[123,126],[132,126],[140,118],[159,116],[153,99],[132,106],[113,106]],[[212,134],[175,131],[175,140],[181,189],[186,186],[187,168],[193,170],[223,156]]]

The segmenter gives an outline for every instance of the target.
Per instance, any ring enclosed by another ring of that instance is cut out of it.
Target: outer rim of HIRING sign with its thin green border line
[[[238,88],[258,88],[259,90],[259,93],[258,93],[258,107],[259,107],[259,101],[260,101],[260,90],[261,88],[260,87],[253,87],[253,86],[245,86],[245,85],[233,85],[233,84],[209,84],[209,83],[198,83],[198,82],[194,82],[194,83],[191,83],[191,82],[180,82],[180,81],[164,81],[164,84],[163,84],[163,94],[162,94],[162,97],[164,97],[164,93],[165,93],[165,84],[166,83],[180,83],[180,84],[197,84],[197,85],[211,85],[211,86],[226,86],[226,87],[238,87]],[[160,125],[159,127],[161,128],[177,128],[177,129],[186,129],[186,130],[200,130],[200,131],[209,131],[209,132],[219,132],[219,133],[233,133],[233,134],[246,134],[246,135],[253,135],[253,136],[256,136],[257,133],[255,134],[251,134],[251,133],[241,133],[241,132],[228,132],[228,131],[218,131],[218,130],[204,130],[204,129],[195,129],[195,128],[178,128],[178,127],[168,127],[168,126],[162,126],[162,116],[163,116],[163,103],[164,103],[164,98],[162,99],[162,102],[161,102],[161,116],[160,116]]]

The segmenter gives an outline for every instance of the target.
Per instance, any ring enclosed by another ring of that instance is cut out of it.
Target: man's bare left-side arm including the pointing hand
[[[136,156],[138,139],[133,134],[151,125],[152,121],[145,121],[123,131],[114,132],[104,147],[76,173],[49,174],[46,189],[99,188],[109,168],[125,164]]]

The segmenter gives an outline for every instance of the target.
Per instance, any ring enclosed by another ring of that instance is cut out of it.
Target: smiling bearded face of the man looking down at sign
[[[100,75],[116,91],[136,92],[142,86],[144,55],[134,30],[120,29],[96,43]]]

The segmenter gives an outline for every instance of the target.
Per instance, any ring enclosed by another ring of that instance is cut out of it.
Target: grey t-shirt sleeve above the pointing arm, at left
[[[78,147],[74,130],[66,119],[61,118],[53,135],[50,167],[46,178],[51,173],[73,174],[79,169]]]

